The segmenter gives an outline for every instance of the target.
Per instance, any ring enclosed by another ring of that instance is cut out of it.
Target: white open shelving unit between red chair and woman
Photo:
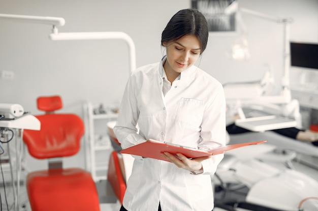
[[[98,107],[99,105],[93,106],[91,102],[85,102],[83,105],[85,167],[96,182],[107,179],[108,160],[113,150],[107,122],[117,118],[116,105],[104,105],[101,110]]]

